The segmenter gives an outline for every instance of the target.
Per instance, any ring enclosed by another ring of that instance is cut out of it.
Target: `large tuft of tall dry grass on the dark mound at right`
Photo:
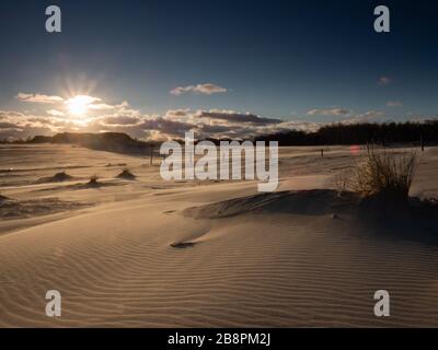
[[[365,197],[406,202],[417,163],[416,153],[397,156],[370,149],[354,172],[351,189]]]

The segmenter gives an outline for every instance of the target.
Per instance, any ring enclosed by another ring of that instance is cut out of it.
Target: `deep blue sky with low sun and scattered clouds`
[[[50,4],[61,33],[45,30]],[[390,33],[373,30],[379,4]],[[2,0],[0,139],[435,118],[437,15],[426,0]]]

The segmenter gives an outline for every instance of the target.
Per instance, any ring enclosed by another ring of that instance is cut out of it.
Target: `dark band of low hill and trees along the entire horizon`
[[[216,144],[230,139],[207,139]],[[184,143],[184,140],[176,140]],[[252,141],[278,141],[279,145],[366,144],[366,143],[438,143],[438,120],[423,122],[332,124],[318,131],[289,130],[258,136]],[[74,133],[35,136],[27,140],[0,141],[0,143],[70,143],[94,150],[122,153],[145,153],[158,148],[157,141],[132,139],[123,132]]]

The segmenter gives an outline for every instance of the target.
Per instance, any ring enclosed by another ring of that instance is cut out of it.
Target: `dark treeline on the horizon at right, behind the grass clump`
[[[437,143],[438,120],[424,122],[333,124],[314,132],[290,130],[256,137],[255,141],[278,141],[279,145]]]

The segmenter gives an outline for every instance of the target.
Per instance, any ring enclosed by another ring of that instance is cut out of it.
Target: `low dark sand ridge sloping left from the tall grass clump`
[[[295,213],[306,215],[348,212],[355,208],[359,196],[331,189],[280,191],[220,201],[203,207],[188,208],[183,214],[195,219],[220,219],[247,213]]]

